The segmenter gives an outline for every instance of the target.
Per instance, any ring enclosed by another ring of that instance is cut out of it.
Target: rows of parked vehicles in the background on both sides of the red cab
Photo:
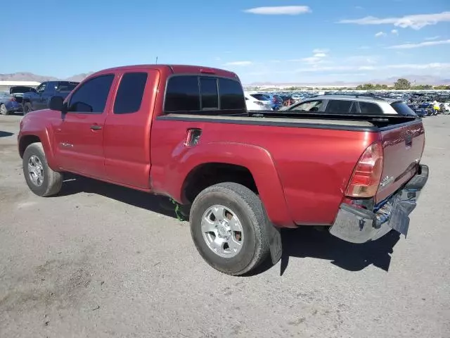
[[[8,92],[0,92],[0,113],[36,111],[48,107],[51,96],[67,97],[77,87],[79,82],[49,81],[42,82],[34,89],[32,87],[11,87]],[[437,115],[437,113],[450,114],[450,94],[448,91],[435,92],[244,92],[245,105],[248,111],[326,111],[332,113],[399,113],[408,115],[411,113],[404,106],[396,105],[394,110],[383,109],[378,103],[384,101],[403,101],[418,116]],[[330,99],[333,95],[333,99]],[[370,99],[370,98],[373,99]],[[378,99],[377,99],[378,98]],[[371,103],[370,103],[371,102]],[[386,108],[386,107],[385,107]]]

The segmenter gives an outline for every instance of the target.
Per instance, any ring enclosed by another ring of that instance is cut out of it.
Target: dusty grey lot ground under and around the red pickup
[[[285,232],[251,277],[212,270],[157,197],[76,178],[34,196],[19,121],[0,117],[0,337],[450,337],[450,116],[425,120],[407,239]]]

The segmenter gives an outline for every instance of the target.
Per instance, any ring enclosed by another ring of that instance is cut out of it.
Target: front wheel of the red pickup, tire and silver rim
[[[31,169],[29,164],[32,167]],[[34,170],[32,170],[33,168]],[[49,167],[44,147],[40,142],[32,143],[25,149],[23,154],[23,175],[30,190],[37,196],[56,195],[63,186],[63,174],[53,171]],[[41,177],[41,179],[33,180],[32,177]]]

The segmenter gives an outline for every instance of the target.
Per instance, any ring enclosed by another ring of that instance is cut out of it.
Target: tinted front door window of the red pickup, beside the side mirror
[[[70,97],[68,112],[103,113],[113,80],[114,75],[107,74],[93,77],[84,82]]]

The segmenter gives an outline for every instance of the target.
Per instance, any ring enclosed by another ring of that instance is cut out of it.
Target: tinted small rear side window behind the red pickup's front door
[[[147,73],[125,73],[122,76],[115,96],[113,113],[129,114],[141,109],[147,77]]]

